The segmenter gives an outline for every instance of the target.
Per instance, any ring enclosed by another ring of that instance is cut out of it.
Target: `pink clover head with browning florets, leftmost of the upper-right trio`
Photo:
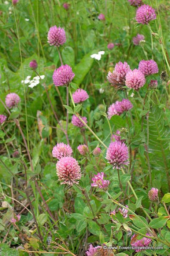
[[[111,73],[111,71],[109,71],[107,79],[112,86],[122,87],[125,85],[125,77],[129,70],[130,67],[126,61],[124,63],[119,61],[118,63],[116,63],[113,72]]]

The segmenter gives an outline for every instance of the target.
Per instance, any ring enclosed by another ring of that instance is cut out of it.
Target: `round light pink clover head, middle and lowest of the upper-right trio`
[[[145,83],[146,79],[140,70],[130,70],[126,75],[125,84],[131,89],[139,90],[139,88],[143,87]]]

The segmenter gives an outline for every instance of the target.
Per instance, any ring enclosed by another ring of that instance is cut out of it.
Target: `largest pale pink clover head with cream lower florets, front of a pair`
[[[81,179],[81,169],[77,160],[73,157],[62,157],[56,164],[57,175],[61,184],[73,186]]]

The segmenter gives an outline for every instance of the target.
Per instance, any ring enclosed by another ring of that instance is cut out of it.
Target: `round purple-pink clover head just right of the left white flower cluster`
[[[53,82],[55,86],[65,86],[74,79],[74,76],[72,68],[65,64],[54,70]]]

